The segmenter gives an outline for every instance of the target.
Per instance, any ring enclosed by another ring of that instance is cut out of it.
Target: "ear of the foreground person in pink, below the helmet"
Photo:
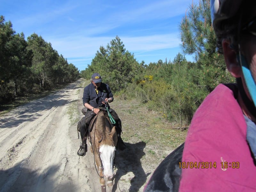
[[[232,49],[230,46],[230,41],[228,41],[227,39],[224,39],[222,41],[222,48],[223,48],[224,59],[225,59],[228,71],[235,78],[241,77],[242,68],[238,60],[236,59],[236,56],[237,56],[236,51]]]

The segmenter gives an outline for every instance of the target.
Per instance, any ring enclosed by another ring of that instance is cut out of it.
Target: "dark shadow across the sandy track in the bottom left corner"
[[[30,170],[27,164],[20,162],[15,166],[0,171],[0,191],[76,191],[77,188],[69,180],[58,181],[56,174],[60,165],[52,165],[41,174],[39,170]]]

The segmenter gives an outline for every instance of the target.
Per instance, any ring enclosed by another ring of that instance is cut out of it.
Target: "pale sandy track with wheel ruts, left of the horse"
[[[100,191],[90,149],[76,155],[77,122],[67,114],[75,102],[82,117],[80,84],[0,117],[0,191]]]

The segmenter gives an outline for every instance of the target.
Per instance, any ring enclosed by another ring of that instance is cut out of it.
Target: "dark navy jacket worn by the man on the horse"
[[[100,87],[98,88],[98,95],[92,83],[84,87],[84,95],[82,98],[83,104],[89,103],[94,108],[98,108],[100,106],[105,107],[105,104],[102,104],[102,101],[104,101],[106,98],[111,98],[112,101],[114,100],[113,94],[108,84],[100,84]]]

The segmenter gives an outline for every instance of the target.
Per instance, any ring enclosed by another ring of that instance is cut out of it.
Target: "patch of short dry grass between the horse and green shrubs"
[[[176,129],[160,113],[148,110],[136,100],[120,100],[115,97],[110,105],[122,120],[124,142],[143,141],[151,154],[155,151],[154,155],[162,158],[185,140],[187,131]]]

